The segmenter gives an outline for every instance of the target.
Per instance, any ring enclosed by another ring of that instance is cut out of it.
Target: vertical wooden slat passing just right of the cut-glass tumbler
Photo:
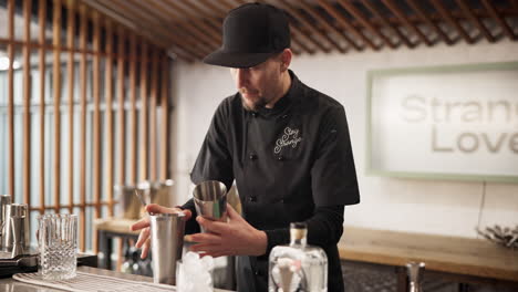
[[[86,248],[86,43],[87,43],[87,15],[86,7],[80,7],[80,249]]]

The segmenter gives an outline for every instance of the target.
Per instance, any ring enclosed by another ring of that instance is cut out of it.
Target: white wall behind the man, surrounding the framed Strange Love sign
[[[305,84],[340,101],[346,111],[361,204],[345,209],[345,225],[476,237],[475,228],[518,223],[518,184],[434,181],[365,176],[369,70],[518,61],[518,42],[367,50],[296,56],[291,69]],[[177,62],[173,71],[173,174],[178,204],[189,197],[188,173],[216,106],[235,92],[228,69]]]

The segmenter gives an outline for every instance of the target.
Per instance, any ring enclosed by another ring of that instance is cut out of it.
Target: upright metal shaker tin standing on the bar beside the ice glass
[[[176,261],[184,248],[184,213],[157,213],[151,216],[153,251],[153,281],[176,284]]]

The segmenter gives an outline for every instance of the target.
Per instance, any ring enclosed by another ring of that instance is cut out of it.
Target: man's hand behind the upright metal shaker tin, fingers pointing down
[[[184,212],[185,215],[185,220],[189,220],[191,213],[189,210],[182,210],[179,208],[166,208],[160,205],[156,204],[149,204],[146,206],[146,211],[149,213],[178,213],[178,212]],[[142,253],[141,253],[141,259],[147,258],[147,253],[149,252],[149,244],[151,244],[151,238],[149,238],[149,217],[144,217],[138,222],[134,223],[131,227],[132,231],[134,230],[139,230],[141,234],[138,234],[138,240],[135,243],[136,248],[142,248]]]

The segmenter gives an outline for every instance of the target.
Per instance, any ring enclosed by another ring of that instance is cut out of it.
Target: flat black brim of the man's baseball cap
[[[251,67],[268,60],[274,53],[229,53],[219,49],[206,58],[204,63],[227,67]]]

